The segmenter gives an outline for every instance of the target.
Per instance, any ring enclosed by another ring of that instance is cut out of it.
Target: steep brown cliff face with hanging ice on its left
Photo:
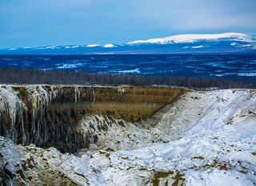
[[[86,115],[98,113],[139,121],[182,93],[182,89],[156,87],[2,85],[0,135],[16,144],[74,152],[98,139],[93,133],[84,135],[77,129]]]

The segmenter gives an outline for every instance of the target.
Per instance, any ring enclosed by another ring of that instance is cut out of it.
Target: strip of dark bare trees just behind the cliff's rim
[[[49,85],[170,85],[191,89],[256,89],[254,79],[230,80],[220,77],[152,77],[38,69],[0,68],[1,84]]]

